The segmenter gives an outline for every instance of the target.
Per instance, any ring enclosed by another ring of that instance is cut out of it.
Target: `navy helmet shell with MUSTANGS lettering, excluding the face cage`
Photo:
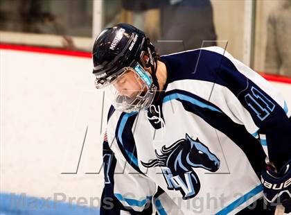
[[[143,53],[149,55],[149,62],[143,62]],[[134,61],[154,67],[156,57],[155,47],[145,33],[130,24],[118,24],[102,31],[94,42],[92,54],[97,88],[111,83],[121,69],[130,67]]]

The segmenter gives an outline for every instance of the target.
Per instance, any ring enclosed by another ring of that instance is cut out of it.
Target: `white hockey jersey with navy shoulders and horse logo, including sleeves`
[[[161,61],[168,78],[158,101],[109,111],[100,212],[236,214],[261,198],[265,161],[290,159],[290,110],[220,47]]]

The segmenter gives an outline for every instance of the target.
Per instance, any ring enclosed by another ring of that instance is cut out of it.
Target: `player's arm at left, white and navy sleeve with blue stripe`
[[[128,164],[127,164],[128,166]],[[104,182],[100,214],[152,214],[155,187],[141,176],[125,172],[125,163],[116,160],[107,141],[103,142]]]

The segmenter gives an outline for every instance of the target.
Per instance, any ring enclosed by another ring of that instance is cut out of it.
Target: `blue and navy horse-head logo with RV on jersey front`
[[[157,159],[141,163],[148,168],[161,167],[168,189],[180,191],[183,199],[193,198],[200,191],[200,180],[193,167],[215,172],[220,166],[218,157],[198,138],[194,140],[188,134],[169,147],[163,146],[161,155],[157,150],[155,154]]]

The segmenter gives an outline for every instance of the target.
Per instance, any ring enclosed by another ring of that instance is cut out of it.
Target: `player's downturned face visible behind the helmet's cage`
[[[128,70],[114,82],[114,87],[121,96],[134,98],[136,94],[143,90],[143,80],[131,70]]]

